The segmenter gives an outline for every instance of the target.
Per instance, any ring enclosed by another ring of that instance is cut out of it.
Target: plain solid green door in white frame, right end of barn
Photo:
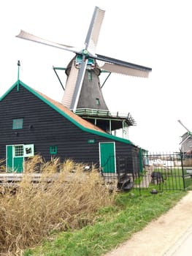
[[[115,173],[115,143],[99,143],[100,167],[104,173]]]

